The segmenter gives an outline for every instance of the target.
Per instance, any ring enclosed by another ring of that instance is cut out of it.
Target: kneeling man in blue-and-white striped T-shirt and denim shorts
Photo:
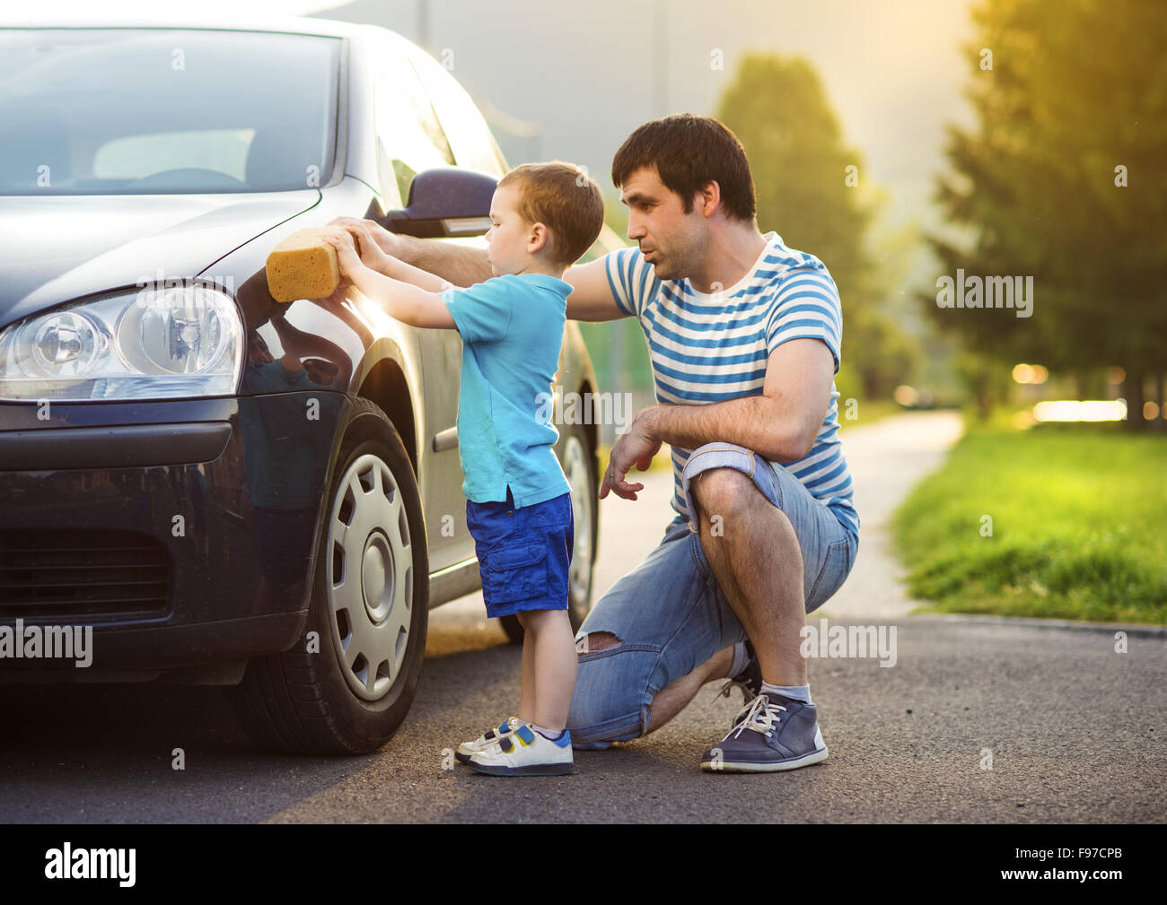
[[[677,514],[576,634],[574,746],[659,729],[701,685],[729,678],[747,704],[704,770],[818,763],[827,749],[799,630],[843,584],[859,542],[837,439],[838,290],[817,258],[759,232],[745,150],[717,120],[644,124],[612,177],[640,248],[568,268],[567,316],[637,317],[661,405],[620,435],[600,497],[636,499],[643,485],[626,475],[669,443]],[[377,239],[461,286],[491,274],[477,250]]]

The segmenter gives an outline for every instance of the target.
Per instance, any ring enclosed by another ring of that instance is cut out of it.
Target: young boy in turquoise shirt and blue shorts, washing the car
[[[495,276],[468,289],[385,254],[359,224],[337,227],[328,240],[341,274],[390,315],[462,337],[457,439],[466,522],[487,616],[518,616],[525,637],[518,716],[463,743],[457,759],[480,773],[561,774],[572,771],[574,521],[552,450],[559,432],[536,411],[559,367],[572,290],[564,271],[600,234],[603,196],[573,164],[525,163],[498,182],[490,219]]]

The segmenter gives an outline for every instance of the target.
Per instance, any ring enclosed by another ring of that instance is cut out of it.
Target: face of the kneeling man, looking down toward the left
[[[680,196],[671,191],[656,168],[635,170],[622,187],[620,199],[628,205],[628,238],[641,246],[658,280],[679,280],[700,262],[706,240],[706,222],[694,204],[685,213]]]

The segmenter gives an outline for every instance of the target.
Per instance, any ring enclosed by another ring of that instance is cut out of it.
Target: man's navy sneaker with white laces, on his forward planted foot
[[[785,695],[760,694],[721,742],[701,756],[710,773],[766,773],[826,760],[826,743],[815,704]]]

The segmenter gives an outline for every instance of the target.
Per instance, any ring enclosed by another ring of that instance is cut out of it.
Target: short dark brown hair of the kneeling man
[[[754,177],[738,136],[712,117],[675,113],[645,122],[624,139],[612,160],[612,183],[619,189],[642,167],[656,169],[661,182],[680,196],[685,213],[693,196],[714,181],[727,216],[752,223],[757,210]]]

